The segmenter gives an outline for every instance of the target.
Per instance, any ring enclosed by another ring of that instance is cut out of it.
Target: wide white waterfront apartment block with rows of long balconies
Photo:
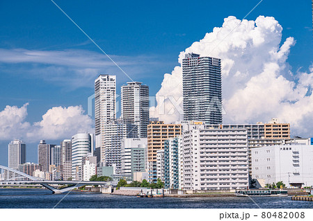
[[[183,132],[184,190],[247,188],[247,130],[190,129]]]

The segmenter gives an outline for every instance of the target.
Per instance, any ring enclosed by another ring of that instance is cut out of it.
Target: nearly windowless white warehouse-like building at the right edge
[[[260,186],[282,181],[287,187],[313,186],[312,145],[274,145],[252,149],[252,178]]]

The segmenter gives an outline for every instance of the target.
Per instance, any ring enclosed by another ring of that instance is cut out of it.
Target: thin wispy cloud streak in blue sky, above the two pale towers
[[[166,63],[150,55],[110,57],[134,80]],[[0,64],[1,72],[23,78],[43,79],[67,89],[93,87],[94,80],[100,73],[114,73],[118,75],[118,80],[129,81],[106,55],[87,50],[40,51],[0,48]]]

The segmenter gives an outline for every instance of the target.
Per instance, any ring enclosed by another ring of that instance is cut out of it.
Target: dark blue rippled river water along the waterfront
[[[196,198],[139,198],[101,193],[71,192],[54,195],[45,189],[0,188],[0,208],[200,208],[200,209],[278,209],[313,208],[313,202],[291,201],[291,197],[196,197]],[[64,199],[63,199],[64,197]],[[62,200],[63,199],[63,200]],[[62,200],[62,201],[61,201]],[[60,202],[61,201],[61,202]],[[60,202],[60,203],[59,203]],[[259,205],[259,207],[256,204]]]

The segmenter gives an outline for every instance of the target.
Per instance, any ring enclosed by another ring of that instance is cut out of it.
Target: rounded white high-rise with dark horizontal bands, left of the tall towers
[[[81,162],[89,153],[93,155],[94,135],[88,133],[72,136],[72,175],[76,180],[82,179]]]

